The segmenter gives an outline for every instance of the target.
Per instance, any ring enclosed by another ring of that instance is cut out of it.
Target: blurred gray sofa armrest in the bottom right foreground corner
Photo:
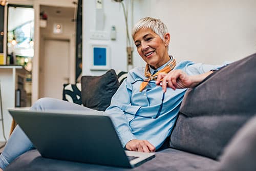
[[[256,116],[238,131],[225,148],[219,171],[256,170]]]

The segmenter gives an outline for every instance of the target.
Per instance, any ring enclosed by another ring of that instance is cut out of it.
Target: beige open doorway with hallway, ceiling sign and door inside
[[[64,83],[75,82],[74,8],[40,6],[38,98],[62,99]]]

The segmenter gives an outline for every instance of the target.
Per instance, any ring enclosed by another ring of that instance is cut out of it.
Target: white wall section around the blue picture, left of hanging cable
[[[82,75],[101,75],[105,71],[91,71],[92,44],[107,45],[110,48],[110,68],[126,69],[126,36],[123,11],[120,3],[103,0],[104,28],[110,33],[111,26],[116,27],[116,40],[90,39],[90,31],[96,30],[96,1],[83,1],[83,51]]]

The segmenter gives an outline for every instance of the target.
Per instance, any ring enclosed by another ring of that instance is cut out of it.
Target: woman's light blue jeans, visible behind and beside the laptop
[[[30,110],[33,111],[53,111],[53,110],[69,110],[69,111],[91,111],[92,109],[84,106],[62,101],[53,98],[41,98],[37,100]],[[93,110],[95,111],[95,110]],[[98,111],[100,112],[100,111]],[[81,112],[79,112],[81,113]],[[100,112],[102,113],[102,112]],[[0,168],[5,169],[16,157],[33,149],[34,146],[26,134],[17,125],[11,137],[7,141],[3,153],[0,155]]]

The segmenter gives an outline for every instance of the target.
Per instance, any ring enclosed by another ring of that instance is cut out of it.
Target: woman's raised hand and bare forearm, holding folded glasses
[[[167,87],[173,90],[191,88],[197,86],[199,82],[211,73],[212,71],[200,75],[187,75],[182,70],[173,70],[168,74],[159,73],[156,84],[162,86],[164,92],[166,92]]]

